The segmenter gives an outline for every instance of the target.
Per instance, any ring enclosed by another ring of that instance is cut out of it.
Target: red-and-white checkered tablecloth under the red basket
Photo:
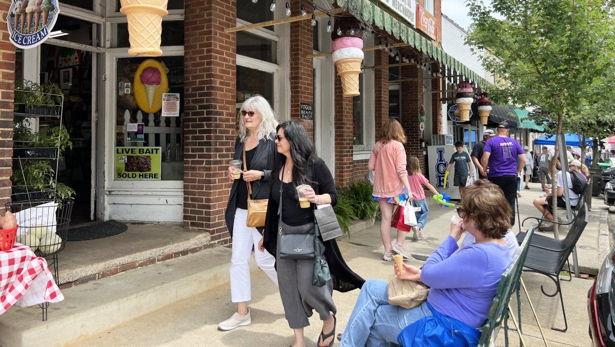
[[[0,251],[0,314],[12,305],[26,307],[62,300],[64,296],[44,258],[20,243],[9,251]]]

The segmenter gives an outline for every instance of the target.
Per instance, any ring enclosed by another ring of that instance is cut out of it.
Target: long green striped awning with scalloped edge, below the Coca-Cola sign
[[[371,0],[373,1],[373,0]],[[385,11],[380,9],[370,0],[330,0],[331,4],[337,3],[339,7],[350,12],[357,18],[361,18],[368,23],[374,23],[378,28],[384,29],[397,39],[409,44],[411,47],[421,52],[431,55],[435,60],[450,67],[451,69],[464,74],[468,79],[478,82],[478,84],[491,84],[488,80],[479,76],[476,72],[467,68],[455,58],[446,54],[440,47],[431,40],[424,38],[416,33],[414,28],[408,26],[405,21],[399,21]]]

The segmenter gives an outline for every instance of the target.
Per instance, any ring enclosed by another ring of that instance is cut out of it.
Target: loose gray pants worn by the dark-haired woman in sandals
[[[329,280],[322,287],[312,286],[314,259],[280,259],[278,252],[276,263],[280,297],[291,329],[309,326],[308,318],[312,316],[312,310],[319,313],[322,321],[337,312],[331,296],[333,281]]]

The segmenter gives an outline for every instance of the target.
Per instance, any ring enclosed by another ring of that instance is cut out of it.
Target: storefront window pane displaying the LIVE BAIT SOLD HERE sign
[[[154,58],[161,63],[169,83],[168,93],[179,93],[177,116],[162,117],[161,111],[141,111],[135,98],[135,74],[143,61],[152,59],[119,58],[117,60],[117,114],[116,114],[116,155],[114,158],[116,179],[155,179],[159,174],[162,181],[183,180],[183,143],[181,128],[184,102],[184,57]],[[164,77],[162,77],[164,79]],[[162,83],[161,79],[161,83]],[[141,81],[138,80],[138,83]],[[158,92],[153,97],[157,97]],[[162,97],[162,96],[161,96]],[[145,94],[137,98],[147,98]],[[143,99],[141,99],[143,100]],[[128,127],[135,131],[128,131]],[[140,136],[141,135],[141,136]],[[121,147],[141,149],[142,154],[129,153]],[[124,150],[126,155],[118,155]],[[158,155],[160,154],[160,155]],[[119,175],[122,178],[119,178]]]

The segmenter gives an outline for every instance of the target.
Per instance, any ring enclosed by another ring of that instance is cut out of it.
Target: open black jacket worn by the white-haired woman
[[[271,170],[274,165],[274,160],[277,154],[276,133],[269,134],[269,139],[260,139],[258,145],[256,145],[256,153],[252,158],[252,167],[248,170],[264,171],[264,176],[261,181],[253,181],[252,184],[252,198],[253,199],[266,199],[269,198],[269,185],[271,182]],[[244,160],[244,142],[239,141],[239,138],[235,141],[235,155],[233,159]],[[231,195],[229,196],[229,202],[226,205],[226,211],[224,211],[224,220],[226,220],[226,227],[229,230],[229,234],[232,237],[232,228],[235,223],[235,210],[237,209],[237,187],[239,184],[245,184],[243,179],[236,179],[232,183]],[[258,228],[259,232],[263,232],[263,228]]]

